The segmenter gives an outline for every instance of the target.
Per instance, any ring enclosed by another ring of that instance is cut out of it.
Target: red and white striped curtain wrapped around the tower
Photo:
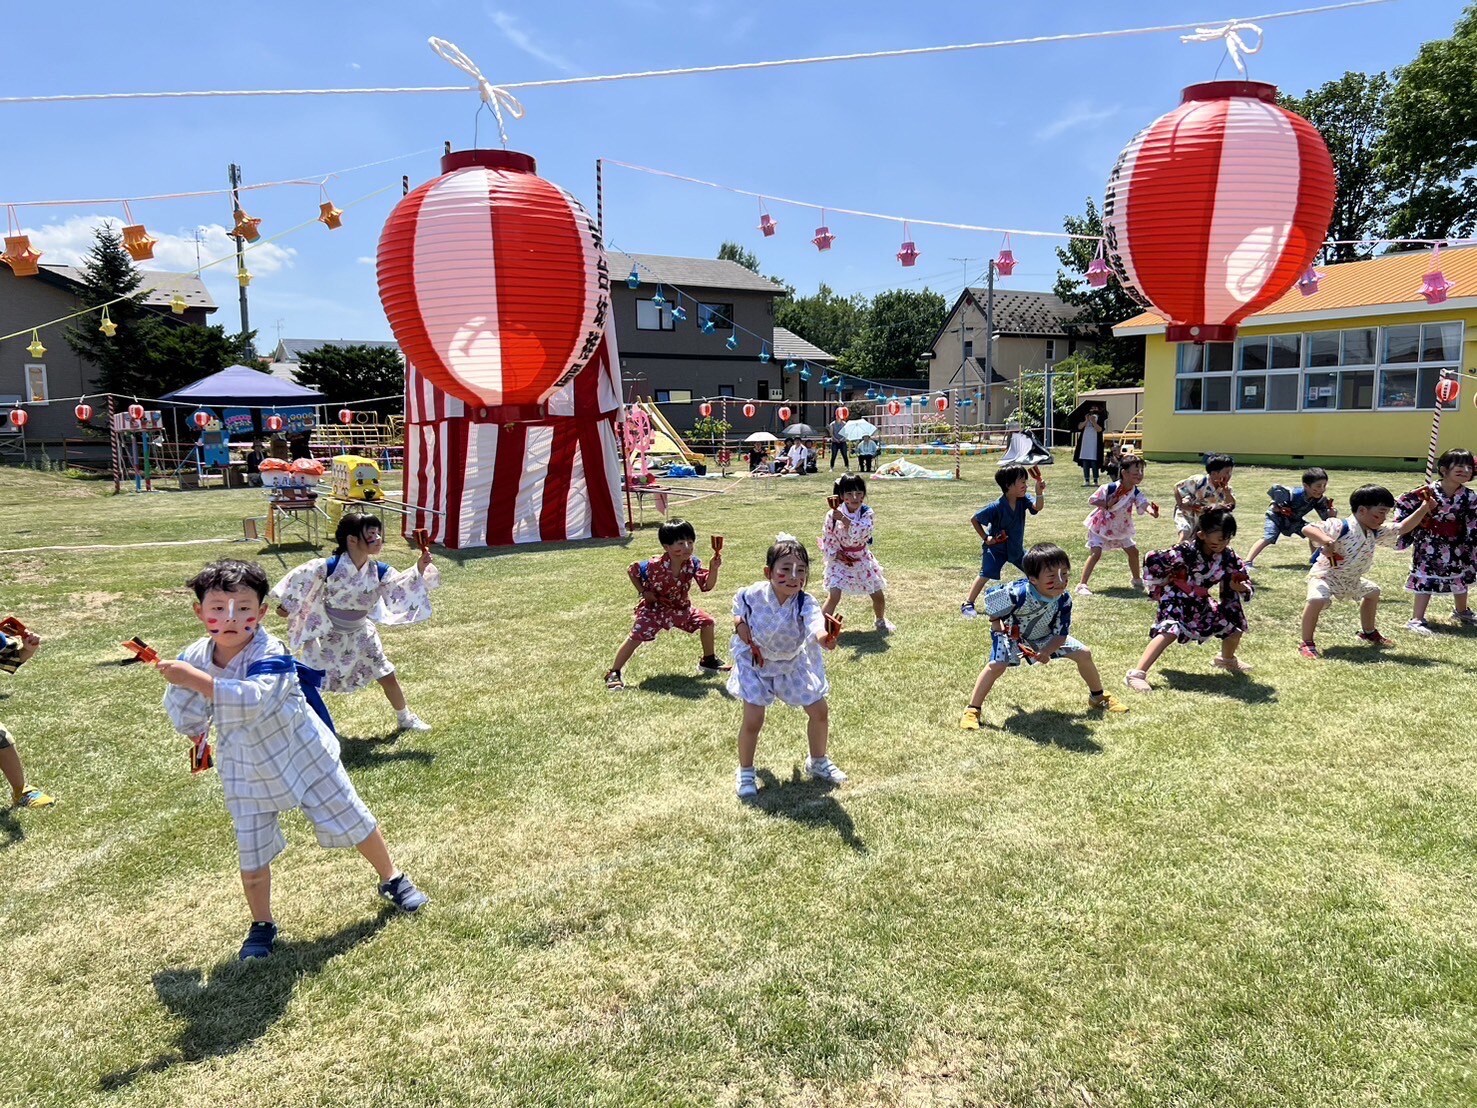
[[[625,535],[613,328],[541,420],[505,423],[501,409],[464,403],[414,366],[405,393],[408,536],[424,527],[433,542],[467,550]]]

